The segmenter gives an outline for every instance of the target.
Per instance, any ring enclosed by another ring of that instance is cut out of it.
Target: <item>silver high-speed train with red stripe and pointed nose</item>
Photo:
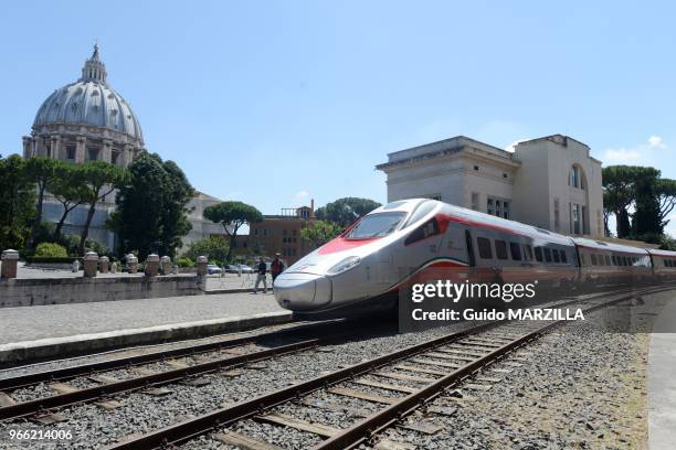
[[[651,282],[676,278],[676,251],[577,238],[434,200],[381,206],[305,256],[274,283],[299,315],[349,315],[392,307],[412,280]]]

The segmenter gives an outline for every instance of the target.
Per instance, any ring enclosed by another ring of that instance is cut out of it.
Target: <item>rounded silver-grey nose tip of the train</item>
[[[316,310],[331,301],[331,281],[321,275],[282,274],[275,280],[275,299],[292,311]]]

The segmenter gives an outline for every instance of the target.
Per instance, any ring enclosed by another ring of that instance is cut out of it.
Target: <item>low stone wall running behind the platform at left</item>
[[[201,277],[0,279],[0,308],[197,296]]]

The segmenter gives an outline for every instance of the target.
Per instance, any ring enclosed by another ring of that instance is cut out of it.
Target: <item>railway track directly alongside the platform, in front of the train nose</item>
[[[387,324],[376,329],[370,326],[369,333],[384,331],[388,326]],[[27,416],[54,417],[53,413],[59,408],[95,400],[99,400],[99,404],[106,408],[113,408],[117,404],[112,399],[115,395],[179,382],[199,383],[197,379],[204,374],[234,371],[273,357],[311,350],[335,340],[355,338],[355,331],[363,329],[363,323],[360,321],[304,323],[254,336],[0,379],[0,420]],[[295,342],[273,347],[257,345],[271,340]],[[110,375],[115,371],[136,373],[137,376],[119,379]],[[21,397],[25,397],[27,394],[31,396],[27,392],[44,385],[56,394],[44,396],[38,393],[35,398],[23,401],[14,399],[17,396],[14,393],[19,390]]]

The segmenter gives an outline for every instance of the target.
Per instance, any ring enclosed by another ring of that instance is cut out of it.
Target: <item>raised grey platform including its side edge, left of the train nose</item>
[[[0,367],[288,322],[272,293],[4,308]]]

